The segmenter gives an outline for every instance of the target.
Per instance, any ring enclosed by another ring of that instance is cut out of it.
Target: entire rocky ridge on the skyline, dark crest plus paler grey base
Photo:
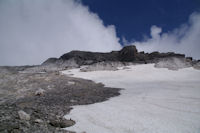
[[[47,59],[44,63],[42,63],[39,69],[42,67],[47,71],[63,70],[77,68],[83,65],[93,65],[93,68],[90,68],[91,70],[96,70],[98,68],[104,70],[104,66],[106,67],[105,70],[115,70],[115,66],[121,66],[122,64],[126,65],[129,63],[157,63],[159,61],[163,61],[164,59],[167,60],[169,58],[177,58],[179,62],[181,61],[182,63],[186,63],[183,66],[195,66],[195,68],[199,68],[198,61],[194,61],[191,57],[185,57],[184,54],[177,54],[174,52],[160,53],[157,51],[152,53],[145,53],[143,51],[138,52],[137,48],[134,45],[131,45],[123,47],[120,51],[112,51],[109,53],[71,51],[62,55],[60,58]],[[171,61],[170,63],[173,63],[173,61]],[[113,64],[114,67],[112,66]],[[161,65],[159,65],[159,67],[161,67]]]

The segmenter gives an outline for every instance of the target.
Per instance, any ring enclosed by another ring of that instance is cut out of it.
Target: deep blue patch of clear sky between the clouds
[[[163,32],[187,23],[189,15],[200,11],[200,0],[82,0],[105,25],[115,25],[117,36],[141,41],[156,25]]]

